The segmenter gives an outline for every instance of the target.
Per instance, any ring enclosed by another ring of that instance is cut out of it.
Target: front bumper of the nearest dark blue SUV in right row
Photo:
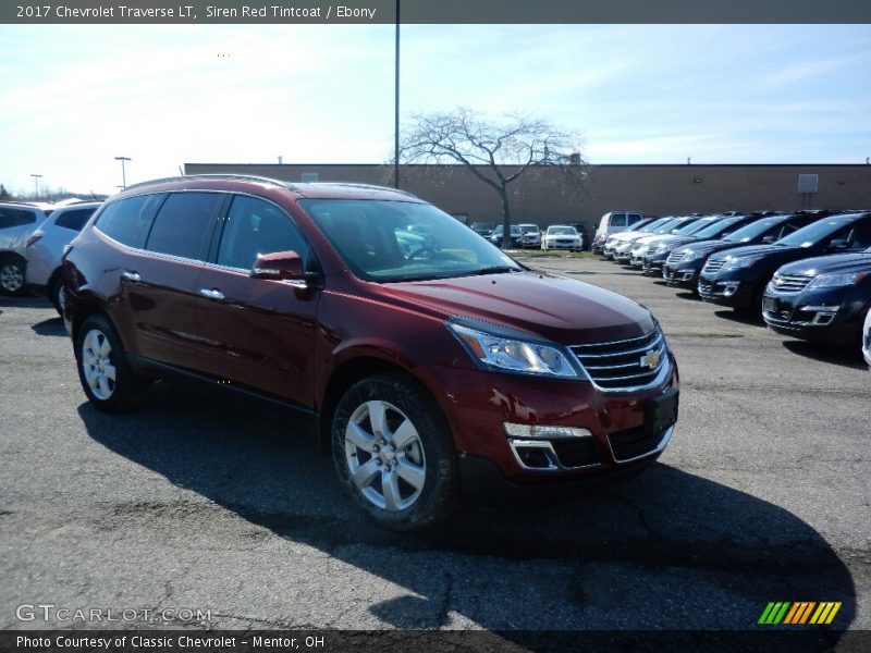
[[[838,289],[762,295],[762,319],[782,335],[832,345],[855,346],[862,328],[861,303],[845,301]]]

